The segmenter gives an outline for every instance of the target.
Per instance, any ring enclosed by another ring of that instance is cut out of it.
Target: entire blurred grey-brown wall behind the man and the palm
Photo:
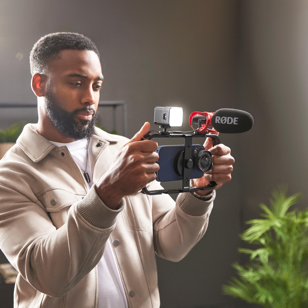
[[[278,184],[306,197],[306,1],[0,0],[2,102],[30,102],[29,52],[44,34],[80,32],[101,53],[102,100],[128,104],[128,137],[155,106],[193,111],[237,108],[254,127],[221,134],[235,157],[233,179],[217,191],[204,238],[179,263],[157,259],[161,307],[239,307],[221,285],[241,261],[238,234]],[[111,129],[107,110],[100,124]],[[0,109],[0,128],[36,122],[35,109]],[[108,122],[109,121],[109,122]],[[119,124],[120,125],[120,124]],[[119,128],[120,131],[120,128]],[[304,205],[304,201],[300,206]],[[229,304],[228,304],[229,303]],[[232,306],[235,305],[235,306]]]

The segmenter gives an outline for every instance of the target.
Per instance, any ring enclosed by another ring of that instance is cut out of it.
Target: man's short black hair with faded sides
[[[30,70],[44,74],[52,60],[57,59],[59,52],[66,49],[94,51],[99,57],[95,44],[83,34],[73,32],[56,32],[41,37],[30,52]]]

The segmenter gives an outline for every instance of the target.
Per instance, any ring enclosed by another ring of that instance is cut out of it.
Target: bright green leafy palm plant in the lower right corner
[[[264,219],[247,221],[241,238],[257,249],[240,248],[250,255],[246,265],[233,264],[238,277],[223,286],[225,294],[268,308],[308,307],[308,208],[289,211],[300,194],[276,190],[270,208],[260,207]]]

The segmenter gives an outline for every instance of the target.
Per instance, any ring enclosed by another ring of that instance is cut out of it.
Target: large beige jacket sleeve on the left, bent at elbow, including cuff
[[[35,289],[61,297],[98,263],[123,207],[107,208],[92,186],[56,229],[34,195],[0,184],[0,249]]]

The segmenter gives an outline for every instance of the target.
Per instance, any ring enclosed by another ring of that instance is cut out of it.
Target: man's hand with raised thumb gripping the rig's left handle
[[[118,208],[122,197],[137,193],[156,179],[158,144],[153,140],[142,140],[149,130],[150,123],[145,122],[116,153],[113,163],[96,185],[97,194],[111,209]]]

